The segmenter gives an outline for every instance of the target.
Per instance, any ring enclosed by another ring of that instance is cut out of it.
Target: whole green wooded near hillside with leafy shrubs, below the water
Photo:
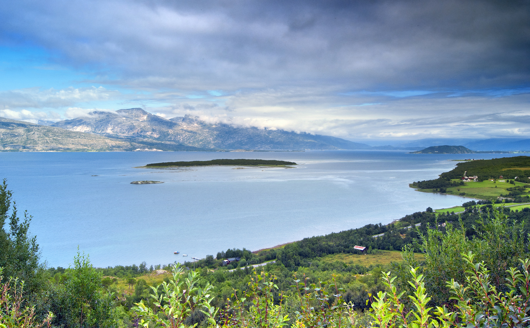
[[[461,215],[427,208],[390,225],[259,253],[234,248],[195,263],[94,268],[78,251],[69,268],[48,268],[29,235],[31,216],[19,217],[4,181],[0,327],[527,326],[530,208],[463,206]],[[355,245],[367,247],[361,258],[399,250],[401,259],[330,258],[359,254]],[[223,266],[231,257],[241,261]]]

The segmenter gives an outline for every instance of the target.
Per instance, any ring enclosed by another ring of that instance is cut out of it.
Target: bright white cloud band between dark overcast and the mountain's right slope
[[[528,129],[522,125],[530,122],[530,94],[335,96],[328,89],[297,89],[241,92],[226,96],[225,106],[207,106],[205,100],[200,101],[185,100],[172,107],[147,110],[167,118],[192,114],[211,123],[356,140],[524,136]],[[366,105],[356,105],[359,103]]]

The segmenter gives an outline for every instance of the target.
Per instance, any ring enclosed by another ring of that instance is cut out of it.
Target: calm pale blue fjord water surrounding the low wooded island
[[[467,155],[469,156],[469,155]],[[510,155],[481,154],[474,158]],[[515,156],[515,155],[513,155]],[[210,166],[135,169],[216,158],[282,159],[295,169]],[[414,191],[464,155],[382,150],[296,153],[0,153],[19,210],[34,218],[42,259],[72,263],[77,246],[99,267],[182,261],[232,247],[258,250],[369,223],[389,223],[463,197]],[[92,176],[98,175],[98,176]],[[164,181],[135,185],[136,180]],[[185,259],[185,258],[184,258]]]

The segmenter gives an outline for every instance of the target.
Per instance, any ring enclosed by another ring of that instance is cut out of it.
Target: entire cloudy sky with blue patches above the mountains
[[[368,144],[530,138],[530,1],[13,1],[0,116],[140,107]]]

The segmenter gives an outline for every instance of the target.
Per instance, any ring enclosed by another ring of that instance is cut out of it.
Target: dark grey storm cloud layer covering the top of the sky
[[[527,85],[527,1],[18,1],[3,38],[145,88]]]

